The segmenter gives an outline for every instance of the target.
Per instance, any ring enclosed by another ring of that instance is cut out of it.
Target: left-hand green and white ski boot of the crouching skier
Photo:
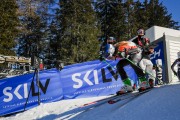
[[[117,95],[122,95],[122,94],[133,91],[133,87],[131,86],[130,78],[123,80],[123,82],[124,82],[124,86],[121,87],[120,91],[116,92]]]

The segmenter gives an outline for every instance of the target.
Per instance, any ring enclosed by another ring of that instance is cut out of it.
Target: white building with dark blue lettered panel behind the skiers
[[[151,60],[156,65],[162,64],[163,81],[166,83],[178,81],[171,70],[171,65],[178,58],[180,51],[180,31],[153,26],[146,30],[145,36],[158,45],[154,54],[151,55]],[[177,70],[177,66],[175,69]]]

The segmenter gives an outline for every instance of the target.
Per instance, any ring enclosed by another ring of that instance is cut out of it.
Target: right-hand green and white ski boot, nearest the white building
[[[139,77],[139,81],[140,81],[139,92],[150,88],[149,83],[146,80],[146,77]]]

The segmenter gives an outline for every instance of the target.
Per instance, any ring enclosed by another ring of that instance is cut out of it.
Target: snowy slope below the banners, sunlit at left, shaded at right
[[[109,96],[62,100],[41,104],[16,115],[1,117],[2,120],[179,120],[180,83],[156,87],[150,92],[119,101],[105,103],[88,110],[80,107],[85,103]],[[93,106],[93,105],[92,105]]]

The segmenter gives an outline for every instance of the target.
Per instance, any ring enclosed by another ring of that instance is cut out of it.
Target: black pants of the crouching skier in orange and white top
[[[131,65],[131,67],[134,69],[134,71],[136,72],[138,77],[145,76],[142,69],[140,69],[139,67],[137,67],[133,63],[129,62],[127,59],[121,59],[117,63],[116,67],[117,67],[119,74],[121,75],[122,80],[128,78],[126,71],[124,70],[124,66],[127,66],[127,65]]]

